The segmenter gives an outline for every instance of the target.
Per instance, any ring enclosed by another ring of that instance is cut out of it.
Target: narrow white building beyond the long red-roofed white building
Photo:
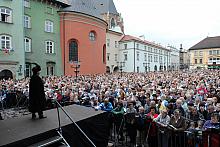
[[[170,70],[179,70],[180,68],[180,50],[176,47],[168,45],[167,48],[171,51],[171,66]]]

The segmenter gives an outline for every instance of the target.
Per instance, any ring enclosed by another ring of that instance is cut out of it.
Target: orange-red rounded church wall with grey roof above
[[[65,75],[105,73],[107,22],[95,0],[69,0],[61,11],[60,35]]]

